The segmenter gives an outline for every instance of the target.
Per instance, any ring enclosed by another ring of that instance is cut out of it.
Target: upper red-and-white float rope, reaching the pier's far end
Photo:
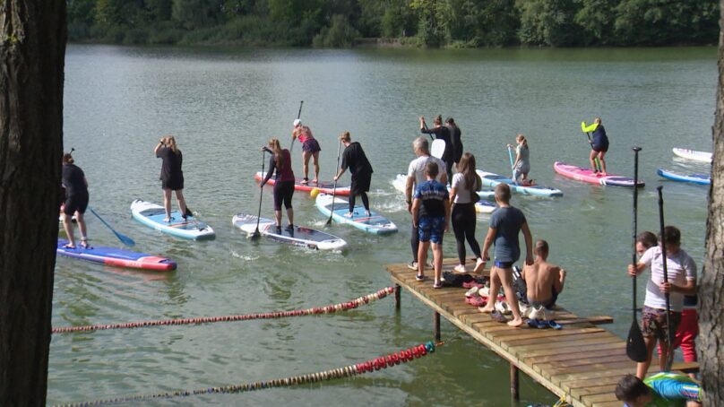
[[[51,333],[88,332],[104,329],[145,328],[148,326],[159,325],[199,325],[211,324],[216,322],[248,321],[252,319],[275,319],[286,318],[289,316],[313,316],[320,314],[334,314],[336,312],[348,311],[349,309],[354,309],[361,305],[369,304],[370,302],[377,299],[384,299],[388,295],[392,294],[392,292],[394,292],[394,287],[387,287],[372,294],[367,294],[366,296],[359,297],[358,299],[352,299],[349,302],[341,302],[339,304],[329,305],[326,307],[313,307],[306,309],[265,312],[258,314],[243,314],[238,316],[202,316],[198,318],[161,319],[157,321],[128,322],[122,324],[63,326],[53,328],[51,330]]]

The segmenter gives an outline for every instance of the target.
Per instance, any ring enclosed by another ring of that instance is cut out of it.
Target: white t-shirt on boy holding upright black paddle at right
[[[659,284],[664,282],[664,262],[662,261],[661,247],[654,246],[646,250],[639,259],[639,263],[646,264],[651,269],[651,279],[646,283],[646,307],[666,309],[666,296],[659,290]],[[668,282],[682,286],[686,281],[696,280],[696,264],[694,259],[679,249],[676,255],[667,257]],[[669,304],[672,311],[681,312],[684,294],[671,292]]]

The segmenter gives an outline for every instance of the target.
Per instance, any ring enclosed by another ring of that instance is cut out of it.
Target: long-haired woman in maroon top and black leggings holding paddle
[[[269,170],[266,177],[260,184],[261,187],[269,181],[269,178],[276,171],[274,178],[274,219],[277,221],[277,234],[281,233],[281,204],[287,209],[289,225],[287,230],[294,231],[294,208],[291,206],[291,198],[294,195],[294,171],[291,169],[291,154],[289,150],[281,149],[279,140],[272,138],[268,146],[262,147],[264,152],[271,152],[269,157]]]

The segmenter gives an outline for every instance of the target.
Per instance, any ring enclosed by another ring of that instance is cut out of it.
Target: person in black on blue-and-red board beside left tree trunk
[[[80,167],[74,164],[70,152],[63,154],[63,187],[65,187],[65,202],[63,203],[63,229],[68,237],[67,248],[75,248],[75,237],[73,236],[73,214],[78,222],[78,229],[81,230],[81,246],[89,247],[88,235],[86,233],[85,218],[83,214],[88,208],[88,181]]]

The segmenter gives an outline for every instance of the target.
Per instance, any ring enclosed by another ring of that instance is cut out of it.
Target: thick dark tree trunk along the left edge
[[[0,0],[0,405],[45,405],[65,0]]]

